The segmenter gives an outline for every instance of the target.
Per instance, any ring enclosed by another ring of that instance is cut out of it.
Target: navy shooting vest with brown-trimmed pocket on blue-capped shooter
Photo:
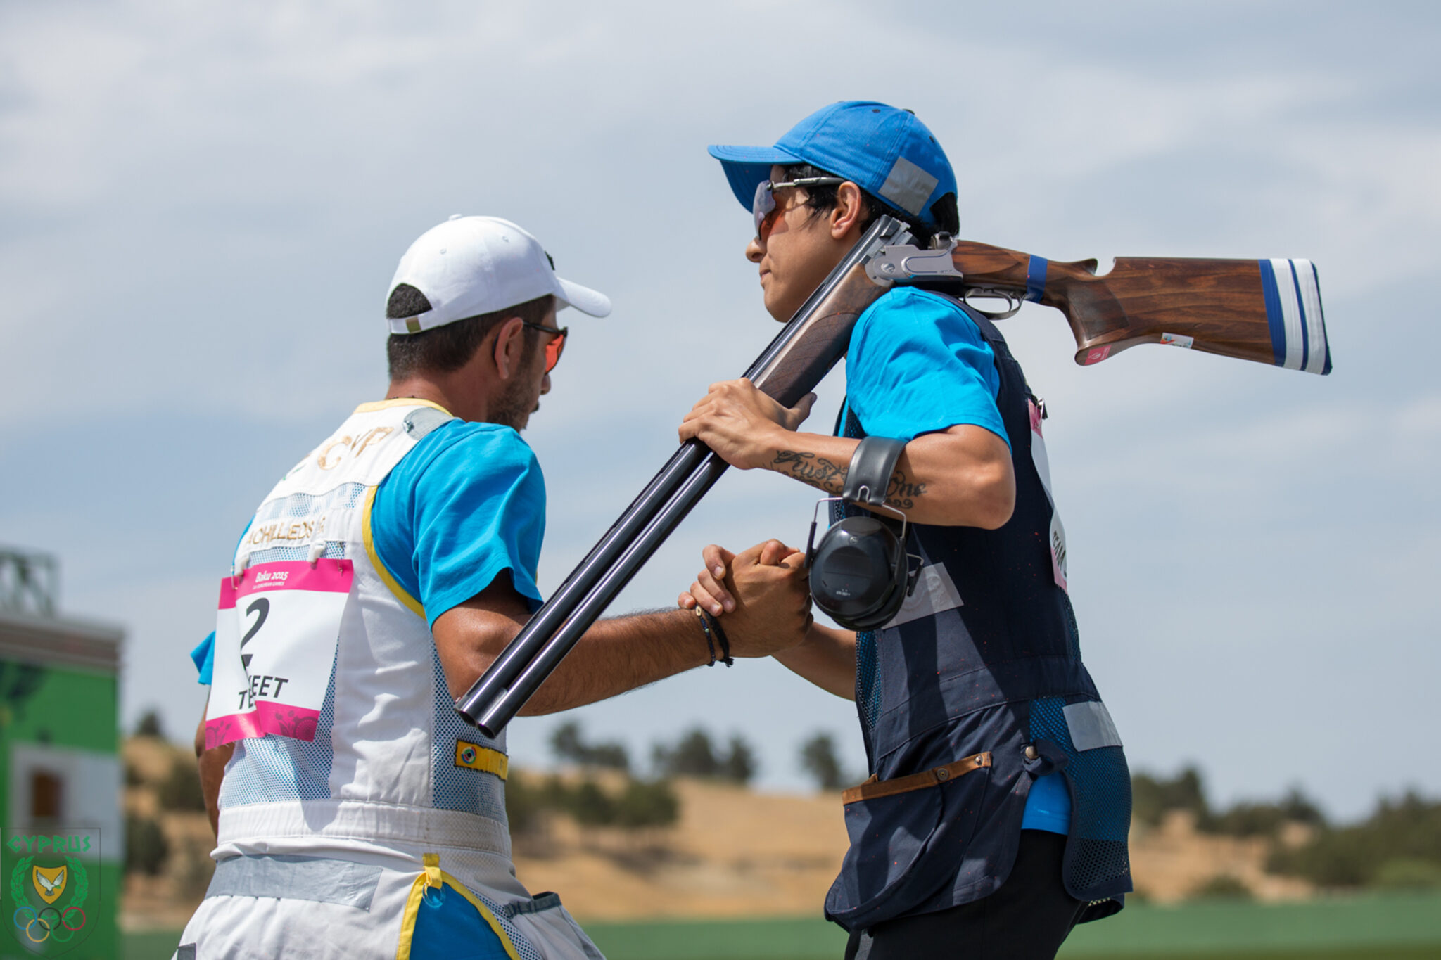
[[[1115,913],[1131,889],[1130,773],[1081,662],[1043,410],[1000,331],[965,312],[996,354],[1016,510],[994,531],[912,525],[916,590],[883,629],[857,635],[856,707],[879,783],[844,797],[850,849],[826,915],[847,930],[994,892],[1030,784],[1055,770],[1072,799],[1063,877],[1089,904],[1082,920]],[[843,416],[846,436],[865,436],[849,406]]]

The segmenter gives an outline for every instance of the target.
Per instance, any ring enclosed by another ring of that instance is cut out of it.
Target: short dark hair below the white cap
[[[486,340],[486,335],[512,317],[539,324],[555,307],[555,296],[546,294],[514,307],[506,307],[490,314],[478,314],[455,320],[444,327],[422,330],[418,334],[391,334],[385,343],[385,356],[391,366],[391,380],[401,380],[418,373],[450,373],[460,370]],[[419,309],[416,309],[419,308]],[[416,288],[401,284],[391,292],[385,315],[391,320],[414,317],[431,309],[431,304]],[[540,332],[526,328],[526,348],[522,363],[527,360],[540,341]]]

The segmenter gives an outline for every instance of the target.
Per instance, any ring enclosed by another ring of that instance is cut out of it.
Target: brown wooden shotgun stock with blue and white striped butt
[[[970,294],[994,292],[1055,307],[1089,366],[1136,344],[1172,344],[1326,374],[1331,354],[1310,261],[1117,258],[1062,263],[958,240],[951,252]]]

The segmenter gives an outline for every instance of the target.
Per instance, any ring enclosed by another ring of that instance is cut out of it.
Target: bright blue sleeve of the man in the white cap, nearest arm
[[[431,625],[503,571],[532,610],[540,606],[545,476],[507,426],[437,427],[380,482],[370,531],[380,563]]]

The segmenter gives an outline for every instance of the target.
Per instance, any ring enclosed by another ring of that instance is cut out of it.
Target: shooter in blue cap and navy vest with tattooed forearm
[[[774,147],[710,154],[755,217],[746,259],[780,321],[876,216],[921,246],[958,229],[955,176],[909,111],[834,104]],[[852,843],[826,915],[850,930],[847,959],[1052,957],[1131,889],[1130,774],[1081,662],[1043,409],[994,325],[919,286],[856,321],[846,386],[836,436],[795,430],[814,394],[785,409],[746,380],[680,427],[831,495],[860,438],[905,442],[886,502],[911,521],[915,593],[878,630],[813,625],[775,655],[856,699],[870,763],[843,797]],[[708,547],[682,603],[731,610],[731,558]]]

